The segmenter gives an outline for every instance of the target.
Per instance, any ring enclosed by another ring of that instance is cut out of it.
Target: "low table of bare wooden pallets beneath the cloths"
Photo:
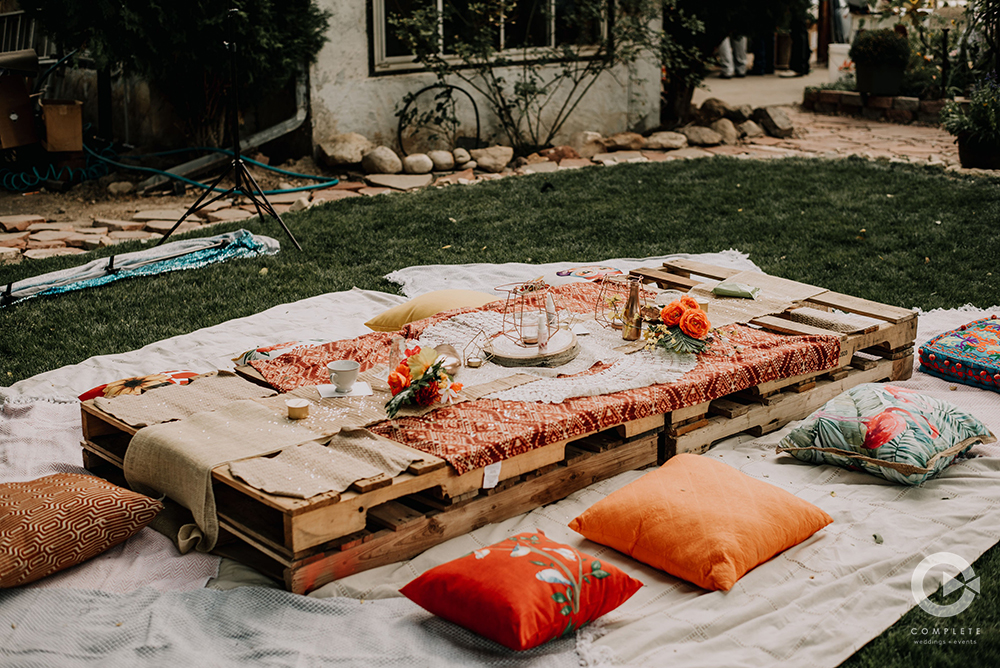
[[[727,278],[731,270],[690,261],[637,270],[646,281],[687,290],[692,274]],[[679,452],[704,452],[729,436],[764,434],[801,419],[860,383],[909,377],[916,315],[847,295],[821,292],[809,308],[866,315],[877,324],[841,337],[834,369],[784,378],[666,414],[612,426],[511,457],[500,482],[483,488],[485,469],[457,474],[442,459],[421,461],[394,478],[378,476],[350,489],[310,499],[276,496],[229,473],[213,471],[221,528],[217,551],[306,593],[335,579],[413,557],[455,536],[566,497],[623,471],[663,462]],[[788,334],[830,334],[788,314],[758,318],[756,326]],[[82,404],[84,463],[123,484],[125,453],[136,429]]]

